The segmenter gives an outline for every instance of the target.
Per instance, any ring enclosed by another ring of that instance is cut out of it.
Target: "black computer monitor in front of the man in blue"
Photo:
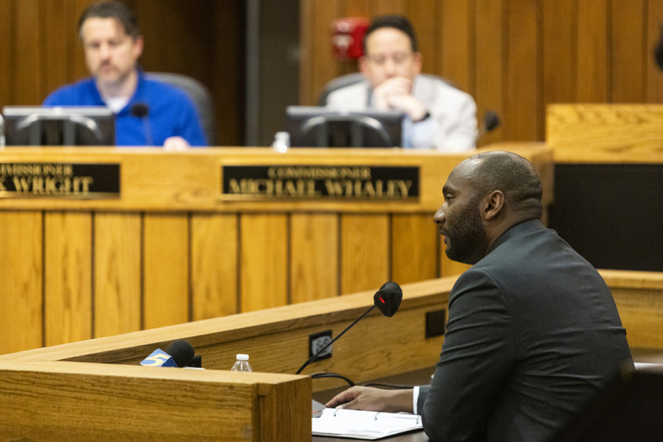
[[[105,106],[4,106],[8,146],[115,146]]]

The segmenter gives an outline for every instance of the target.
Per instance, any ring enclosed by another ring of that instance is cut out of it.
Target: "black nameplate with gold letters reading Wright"
[[[0,198],[119,198],[119,164],[0,163]]]

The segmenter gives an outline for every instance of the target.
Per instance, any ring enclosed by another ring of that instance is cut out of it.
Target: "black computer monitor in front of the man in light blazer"
[[[288,106],[286,130],[292,147],[398,147],[403,113],[338,111],[317,106]]]

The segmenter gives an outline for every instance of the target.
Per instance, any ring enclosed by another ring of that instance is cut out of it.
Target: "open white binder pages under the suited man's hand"
[[[365,412],[325,408],[313,421],[316,436],[381,439],[394,434],[421,430],[421,416],[407,413]]]

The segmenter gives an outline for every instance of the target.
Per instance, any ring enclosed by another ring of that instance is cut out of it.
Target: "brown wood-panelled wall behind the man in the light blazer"
[[[320,75],[302,82],[300,104],[314,104],[327,81],[347,71],[349,62],[330,59],[328,45],[320,43],[329,38],[329,23],[347,9],[335,8],[335,1],[302,0],[304,4],[302,25],[317,30],[302,33],[307,57],[301,72],[319,70]],[[545,106],[550,103],[663,102],[663,73],[652,56],[663,22],[660,1],[403,0],[361,5],[368,19],[387,12],[407,15],[419,35],[423,71],[447,77],[474,95],[480,122],[487,110],[499,113],[501,128],[480,140],[481,145],[544,140]]]

